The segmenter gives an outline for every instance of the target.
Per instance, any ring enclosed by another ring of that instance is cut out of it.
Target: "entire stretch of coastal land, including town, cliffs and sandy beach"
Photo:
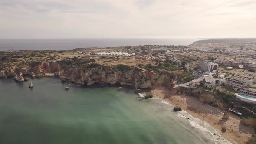
[[[0,78],[23,82],[49,75],[58,76],[62,83],[151,89],[230,141],[256,142],[255,39],[0,52]]]

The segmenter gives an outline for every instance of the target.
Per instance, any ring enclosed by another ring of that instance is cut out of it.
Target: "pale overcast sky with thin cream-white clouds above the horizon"
[[[256,0],[0,0],[0,39],[256,38]]]

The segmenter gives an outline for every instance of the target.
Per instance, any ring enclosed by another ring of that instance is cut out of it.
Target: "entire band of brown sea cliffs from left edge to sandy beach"
[[[171,80],[163,75],[158,75],[146,70],[132,68],[127,65],[118,67],[95,64],[69,66],[61,69],[58,62],[35,62],[30,66],[4,67],[0,71],[0,78],[15,77],[16,75],[39,78],[47,73],[54,73],[62,82],[72,82],[79,85],[90,86],[93,84],[128,85],[135,88],[151,88],[153,85],[171,87]]]

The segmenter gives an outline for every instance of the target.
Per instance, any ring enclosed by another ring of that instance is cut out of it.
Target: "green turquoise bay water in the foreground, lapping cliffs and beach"
[[[82,88],[56,78],[0,79],[0,144],[213,144],[161,99],[126,88]]]

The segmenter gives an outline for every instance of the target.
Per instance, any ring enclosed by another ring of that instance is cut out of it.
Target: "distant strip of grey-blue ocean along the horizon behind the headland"
[[[138,45],[189,45],[197,40],[167,38],[116,38],[116,39],[0,39],[0,51],[13,50],[72,50],[88,47],[115,47]]]

